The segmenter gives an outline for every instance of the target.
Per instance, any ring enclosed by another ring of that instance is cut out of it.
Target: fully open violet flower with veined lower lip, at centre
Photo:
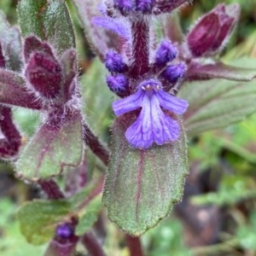
[[[183,114],[188,102],[162,90],[158,80],[144,80],[135,94],[113,102],[116,115],[142,108],[137,120],[127,129],[125,137],[134,148],[150,148],[153,143],[162,145],[179,137],[178,122],[165,110]]]

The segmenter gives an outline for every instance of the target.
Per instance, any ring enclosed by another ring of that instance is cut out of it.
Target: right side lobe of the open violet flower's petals
[[[189,107],[187,101],[172,96],[164,90],[159,90],[156,96],[160,102],[160,106],[171,110],[173,113],[183,114]]]

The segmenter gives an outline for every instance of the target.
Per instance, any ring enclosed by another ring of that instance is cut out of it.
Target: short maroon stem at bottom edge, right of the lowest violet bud
[[[90,253],[90,256],[106,256],[102,250],[102,246],[99,241],[96,240],[96,237],[92,232],[88,232],[82,236],[82,243],[87,251]]]

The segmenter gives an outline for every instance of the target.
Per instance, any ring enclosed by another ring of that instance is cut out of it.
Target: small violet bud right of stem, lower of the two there
[[[170,83],[177,83],[177,80],[183,78],[186,72],[186,65],[184,63],[179,63],[177,65],[170,65],[166,67],[166,70],[162,76],[167,79]]]

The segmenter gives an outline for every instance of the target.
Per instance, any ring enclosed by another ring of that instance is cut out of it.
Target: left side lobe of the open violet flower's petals
[[[120,114],[128,113],[142,107],[144,94],[145,92],[143,90],[138,90],[137,93],[131,96],[113,102],[113,112],[119,116]]]

